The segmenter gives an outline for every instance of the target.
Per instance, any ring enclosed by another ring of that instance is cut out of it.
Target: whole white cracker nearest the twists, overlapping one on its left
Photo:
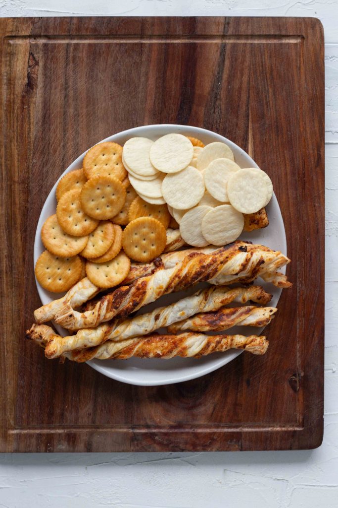
[[[202,234],[208,243],[227,245],[234,242],[244,227],[243,214],[231,205],[212,208],[202,220]]]

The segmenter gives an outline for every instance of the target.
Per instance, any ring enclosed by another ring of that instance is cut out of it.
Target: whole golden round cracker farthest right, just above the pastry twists
[[[153,217],[132,220],[123,232],[122,247],[134,261],[152,261],[164,250],[167,234],[163,224]]]

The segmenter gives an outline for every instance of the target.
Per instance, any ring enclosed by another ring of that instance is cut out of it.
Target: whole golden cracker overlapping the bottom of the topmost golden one
[[[81,204],[91,217],[106,220],[115,217],[126,201],[126,189],[114,176],[97,175],[81,190]]]

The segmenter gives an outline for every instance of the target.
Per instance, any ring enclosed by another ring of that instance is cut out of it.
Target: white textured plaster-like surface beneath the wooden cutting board
[[[0,454],[0,508],[338,506],[338,1],[0,0],[0,16],[314,16],[325,29],[326,346],[322,446],[302,452]]]

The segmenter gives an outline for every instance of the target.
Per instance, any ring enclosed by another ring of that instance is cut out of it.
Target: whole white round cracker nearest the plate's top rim
[[[190,164],[193,154],[191,141],[173,133],[155,141],[150,150],[150,160],[163,173],[177,173]]]

